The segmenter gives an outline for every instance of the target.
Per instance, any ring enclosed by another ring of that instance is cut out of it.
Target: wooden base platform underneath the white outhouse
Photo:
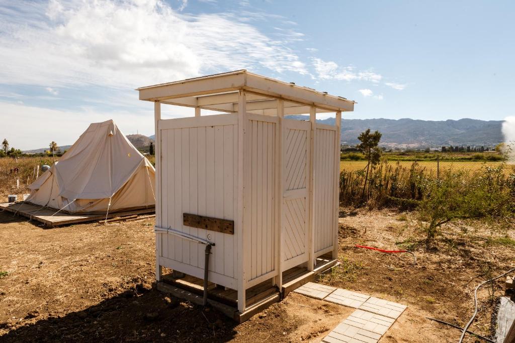
[[[244,313],[240,313],[237,310],[238,294],[235,290],[217,286],[212,282],[208,283],[209,303],[235,321],[244,322],[253,315],[268,308],[272,303],[280,301],[297,287],[307,282],[314,281],[317,274],[323,273],[335,265],[338,265],[338,261],[330,257],[317,258],[316,262],[317,264],[313,272],[309,272],[302,267],[294,267],[286,270],[283,273],[282,290],[272,285],[271,280],[266,280],[250,287],[246,291],[247,310]],[[202,295],[204,292],[203,280],[190,275],[186,275],[182,278],[174,278],[171,273],[163,275],[162,281],[158,283],[158,290],[202,304]]]

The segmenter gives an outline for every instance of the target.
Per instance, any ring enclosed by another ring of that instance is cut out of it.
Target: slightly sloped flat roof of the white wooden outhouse
[[[235,70],[180,81],[140,87],[140,100],[160,101],[179,106],[237,112],[238,92],[247,93],[247,112],[276,114],[276,99],[285,102],[285,114],[309,113],[309,106],[317,112],[349,112],[354,101],[298,86],[249,71]]]

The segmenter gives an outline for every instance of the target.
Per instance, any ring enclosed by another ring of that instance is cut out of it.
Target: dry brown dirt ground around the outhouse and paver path
[[[408,305],[381,343],[456,342],[458,330],[425,317],[462,326],[473,312],[473,288],[515,264],[511,241],[486,241],[486,229],[465,239],[457,228],[446,228],[457,236],[448,234],[428,248],[410,214],[342,210],[340,216],[341,265],[320,282]],[[237,325],[217,311],[162,294],[153,286],[152,225],[144,220],[43,229],[1,212],[0,273],[7,275],[0,274],[0,341],[318,342],[352,312],[291,293]],[[418,264],[409,254],[355,244],[409,246]],[[494,288],[495,297],[502,295],[502,280]],[[491,315],[485,289],[471,330],[489,336]]]

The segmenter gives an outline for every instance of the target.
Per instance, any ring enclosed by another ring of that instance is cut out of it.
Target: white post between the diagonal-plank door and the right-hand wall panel
[[[307,260],[307,269],[312,271],[315,269],[315,134],[316,134],[316,109],[315,107],[310,107],[310,122],[311,122],[311,139],[310,139],[310,179],[309,179],[309,187],[310,187],[310,197],[309,197],[309,213],[308,216],[308,260]]]

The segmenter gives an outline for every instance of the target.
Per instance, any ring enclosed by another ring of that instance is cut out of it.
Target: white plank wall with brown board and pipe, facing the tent
[[[227,124],[225,118],[222,125],[185,126],[161,131],[162,226],[214,242],[210,271],[235,278],[234,235],[184,226],[182,214],[235,219],[237,124]],[[171,234],[162,236],[163,257],[203,269],[203,245]]]

